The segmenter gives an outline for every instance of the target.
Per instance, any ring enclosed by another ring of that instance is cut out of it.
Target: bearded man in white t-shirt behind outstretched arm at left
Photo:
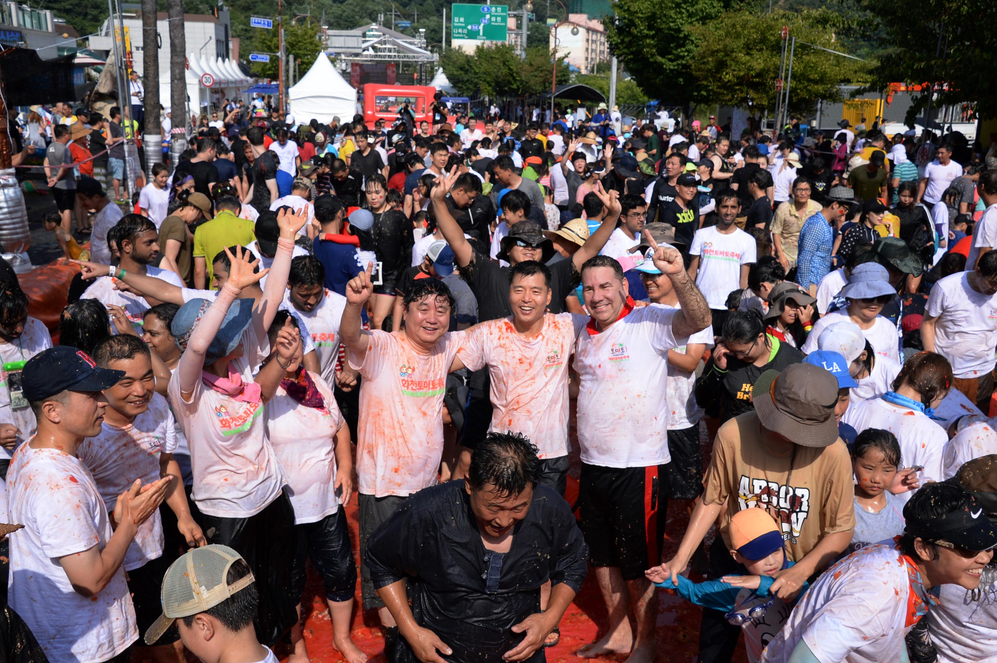
[[[160,251],[159,232],[156,225],[145,216],[140,214],[125,216],[111,229],[109,235],[118,249],[121,262],[118,267],[108,265],[107,276],[101,276],[94,281],[81,298],[98,299],[105,306],[121,306],[125,309],[129,322],[141,330],[143,318],[150,304],[141,295],[116,288],[123,272],[152,276],[178,288],[182,288],[184,283],[175,273],[150,264]]]

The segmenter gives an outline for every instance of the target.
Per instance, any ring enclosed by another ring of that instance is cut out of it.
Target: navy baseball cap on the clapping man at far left
[[[24,398],[37,403],[64,391],[99,392],[125,377],[124,371],[100,368],[79,348],[58,345],[38,353],[24,365],[21,386]]]

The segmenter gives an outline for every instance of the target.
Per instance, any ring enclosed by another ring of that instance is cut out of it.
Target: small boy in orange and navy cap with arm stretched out
[[[744,574],[699,583],[676,575],[678,585],[662,566],[649,568],[645,574],[657,586],[675,589],[696,605],[726,612],[727,621],[744,628],[748,659],[757,663],[765,645],[782,630],[793,609],[793,603],[771,594],[769,588],[776,573],[796,562],[787,558],[782,531],[764,508],[738,511],[731,518],[730,536],[734,547],[731,556],[744,566]],[[805,583],[804,591],[807,586]]]

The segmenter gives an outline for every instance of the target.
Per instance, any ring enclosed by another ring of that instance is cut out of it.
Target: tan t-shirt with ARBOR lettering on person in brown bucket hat
[[[793,475],[788,477],[791,467]],[[728,550],[731,518],[743,508],[773,504],[779,509],[786,550],[793,561],[803,559],[824,536],[855,526],[851,459],[844,443],[838,439],[823,449],[798,445],[795,459],[792,452],[775,456],[762,441],[755,412],[720,427],[703,486],[703,503],[727,500],[720,533]]]

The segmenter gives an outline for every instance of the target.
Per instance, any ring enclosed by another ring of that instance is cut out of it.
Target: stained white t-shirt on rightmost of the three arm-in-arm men
[[[578,335],[574,370],[581,460],[605,468],[645,468],[671,462],[668,453],[668,351],[676,310],[643,306],[601,333]]]

